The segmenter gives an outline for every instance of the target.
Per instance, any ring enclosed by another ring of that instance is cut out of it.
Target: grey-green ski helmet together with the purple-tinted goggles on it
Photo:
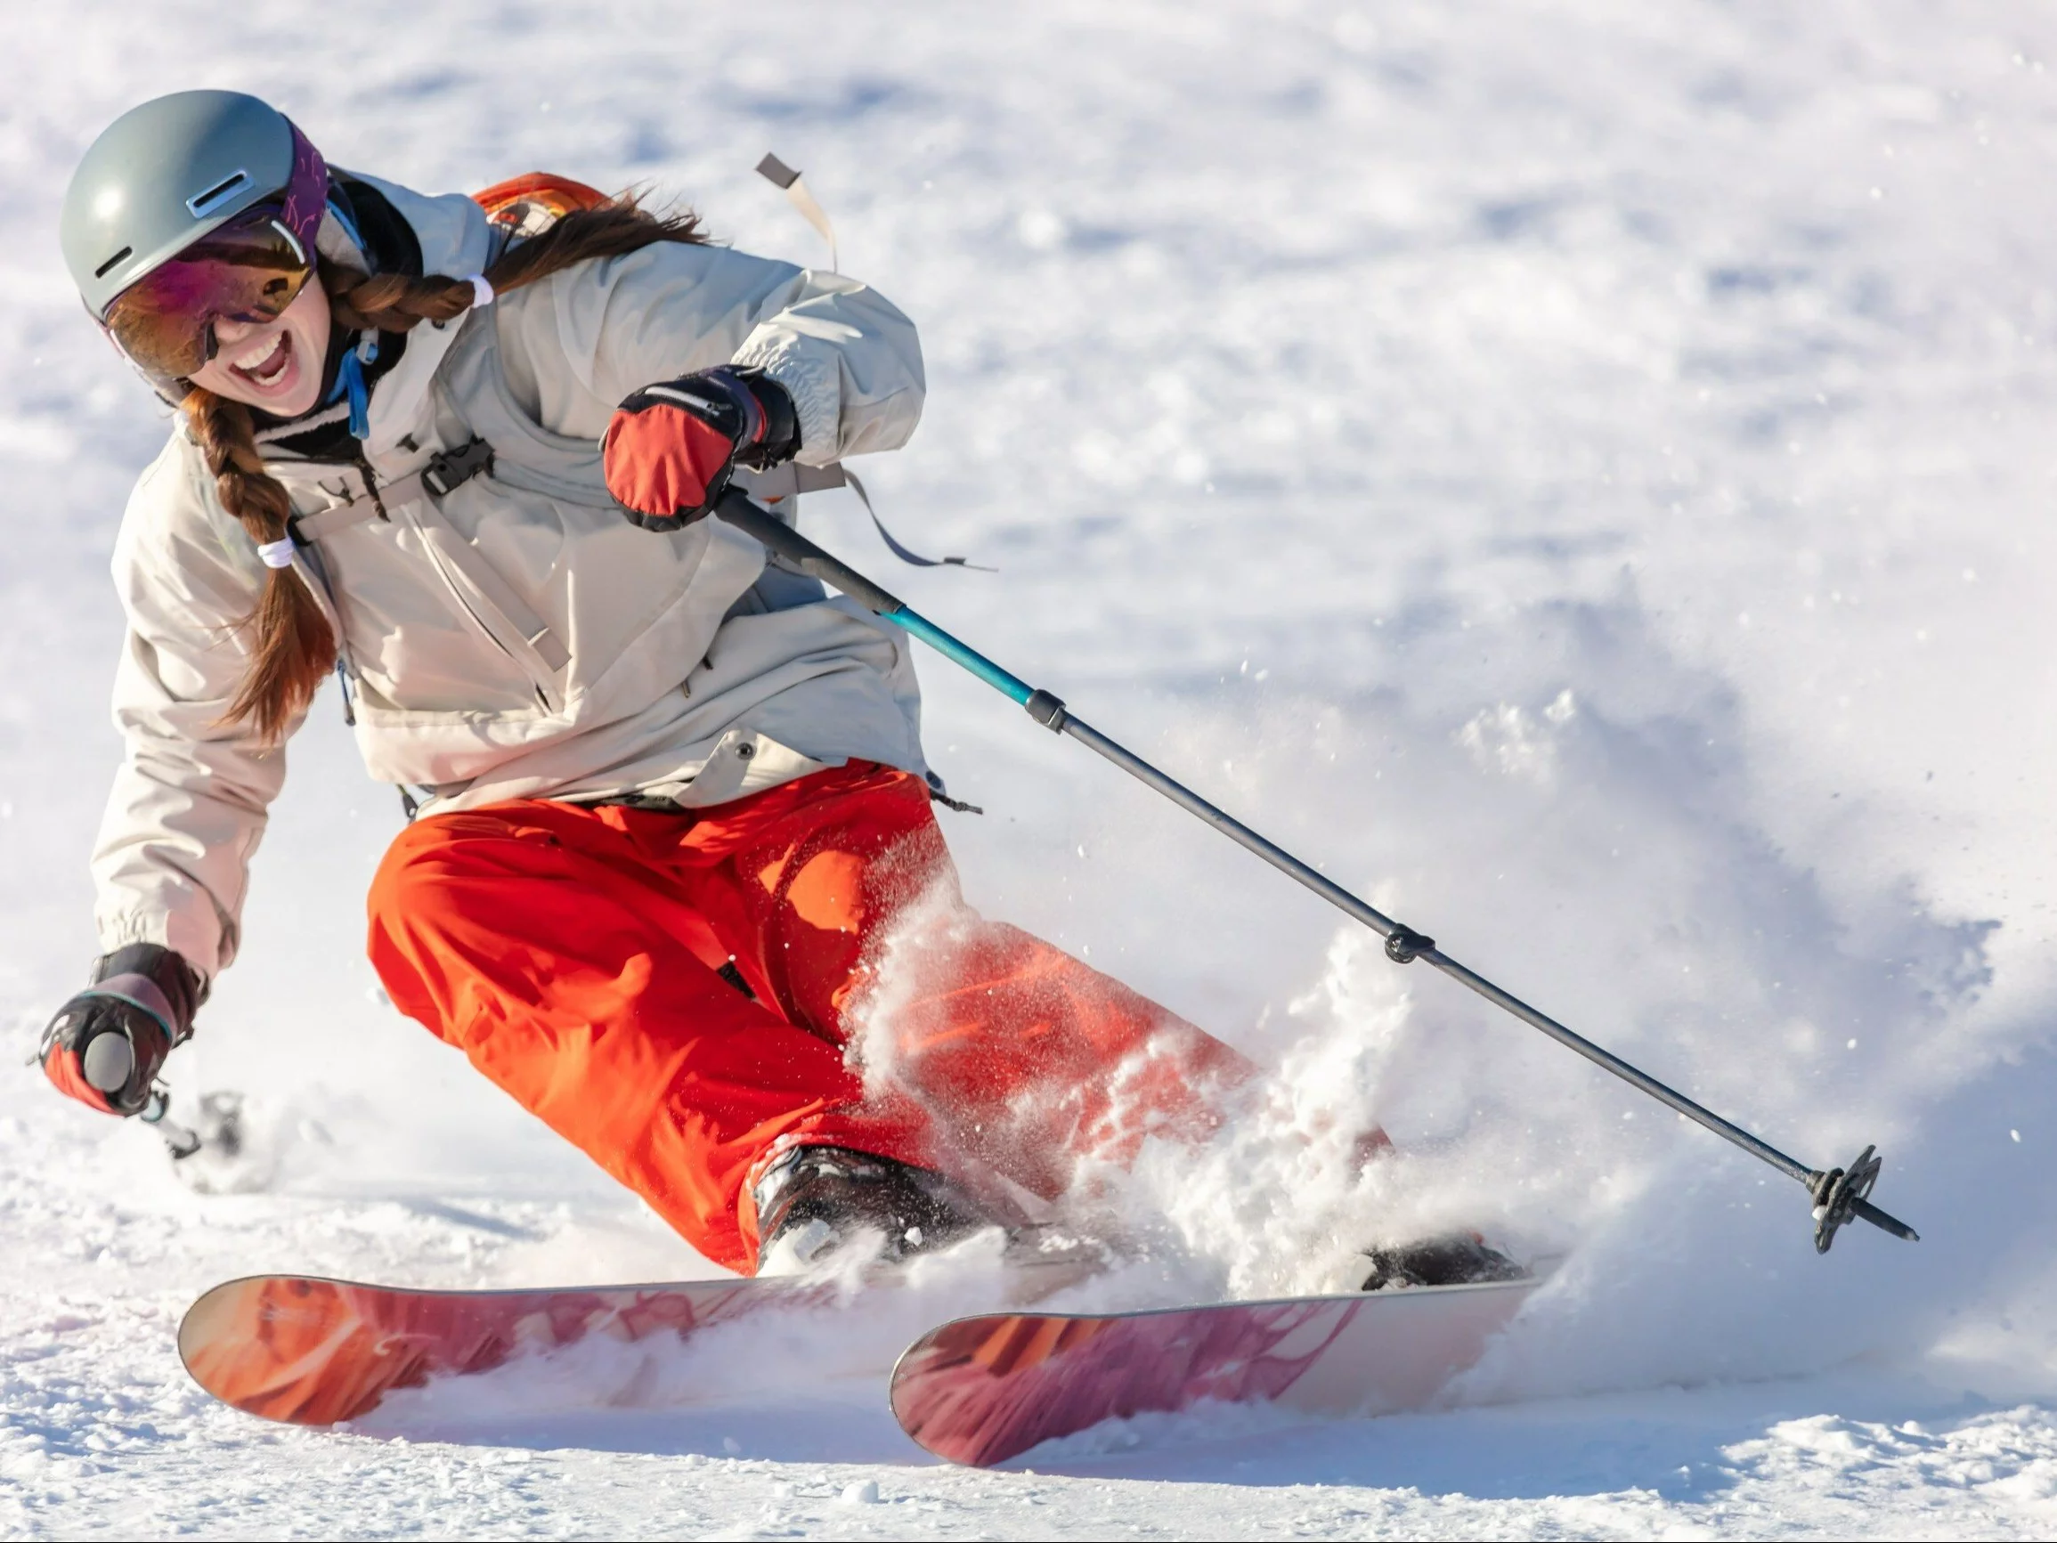
[[[117,117],[64,193],[58,237],[86,311],[156,385],[214,321],[276,317],[315,272],[329,173],[269,103],[179,91]]]

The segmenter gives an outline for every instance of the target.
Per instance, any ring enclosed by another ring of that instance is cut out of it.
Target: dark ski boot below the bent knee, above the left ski
[[[759,1276],[817,1269],[864,1234],[882,1239],[878,1263],[897,1265],[998,1226],[940,1173],[843,1146],[796,1146],[765,1169],[751,1195]]]

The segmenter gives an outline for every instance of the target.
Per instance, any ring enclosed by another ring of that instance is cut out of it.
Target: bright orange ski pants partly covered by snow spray
[[[370,957],[401,1012],[741,1271],[788,1146],[1055,1197],[1080,1156],[1203,1136],[1253,1072],[971,911],[924,782],[864,761],[714,809],[424,817],[372,881]]]

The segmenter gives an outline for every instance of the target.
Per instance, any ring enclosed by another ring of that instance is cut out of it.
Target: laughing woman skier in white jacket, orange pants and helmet
[[[706,518],[903,444],[913,325],[566,187],[424,198],[220,91],[86,152],[66,261],[179,418],[115,549],[105,955],[51,1082],[150,1105],[333,669],[422,796],[368,903],[393,1002],[710,1259],[936,1247],[1205,1129],[1240,1055],[957,895],[905,636]]]

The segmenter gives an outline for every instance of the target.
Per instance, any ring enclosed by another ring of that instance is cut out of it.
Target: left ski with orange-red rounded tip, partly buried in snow
[[[216,1286],[179,1325],[179,1356],[226,1405],[294,1426],[333,1426],[391,1389],[469,1376],[588,1335],[687,1337],[767,1306],[831,1300],[833,1286],[701,1280],[555,1292],[411,1292],[306,1276]]]

